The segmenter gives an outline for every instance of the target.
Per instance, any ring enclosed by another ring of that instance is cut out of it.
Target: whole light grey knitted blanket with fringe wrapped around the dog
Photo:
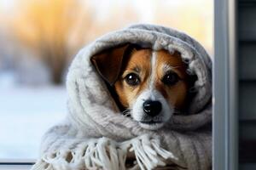
[[[90,57],[125,43],[180,52],[197,77],[189,111],[147,130],[120,113]],[[212,62],[188,35],[153,25],[113,31],[79,51],[67,75],[67,118],[44,134],[33,170],[212,168]],[[50,117],[49,117],[50,118]]]

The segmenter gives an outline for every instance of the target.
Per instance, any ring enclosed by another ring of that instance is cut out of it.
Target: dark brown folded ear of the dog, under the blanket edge
[[[110,85],[113,85],[119,77],[122,61],[129,44],[104,50],[91,57],[92,64],[96,67],[98,73]]]

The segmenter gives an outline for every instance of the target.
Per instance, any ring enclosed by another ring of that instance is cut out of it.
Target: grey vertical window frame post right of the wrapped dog
[[[238,169],[236,0],[214,2],[212,167]]]

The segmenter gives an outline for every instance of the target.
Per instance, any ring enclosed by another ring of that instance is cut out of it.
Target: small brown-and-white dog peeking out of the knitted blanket
[[[177,51],[153,51],[126,44],[91,58],[96,70],[112,87],[125,115],[150,130],[163,127],[186,106],[189,91],[187,65]]]

